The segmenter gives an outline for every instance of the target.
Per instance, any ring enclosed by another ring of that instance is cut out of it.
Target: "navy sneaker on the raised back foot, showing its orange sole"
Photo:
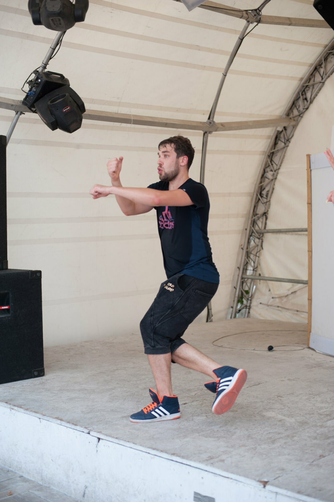
[[[206,389],[215,393],[212,412],[221,415],[234,405],[238,394],[247,380],[247,371],[231,366],[221,366],[213,370],[218,379],[204,384]]]

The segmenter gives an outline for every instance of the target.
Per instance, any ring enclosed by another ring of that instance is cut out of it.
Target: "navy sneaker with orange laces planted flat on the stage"
[[[150,389],[152,403],[145,406],[138,413],[130,417],[131,422],[162,422],[180,418],[180,405],[177,396],[163,396],[160,400],[158,394]]]

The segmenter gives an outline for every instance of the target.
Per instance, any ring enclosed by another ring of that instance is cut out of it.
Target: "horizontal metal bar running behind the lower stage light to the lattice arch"
[[[0,108],[24,113],[32,113],[27,106],[16,99],[9,99],[0,96]],[[102,122],[117,122],[136,124],[137,126],[161,127],[168,129],[184,129],[193,131],[203,131],[207,133],[217,133],[224,131],[243,131],[247,129],[265,129],[273,127],[284,127],[295,123],[290,118],[269,118],[264,120],[237,120],[234,122],[218,122],[209,126],[206,122],[196,120],[182,120],[161,117],[151,117],[146,115],[131,115],[130,113],[116,113],[101,110],[86,110],[83,114],[85,120],[98,120]]]

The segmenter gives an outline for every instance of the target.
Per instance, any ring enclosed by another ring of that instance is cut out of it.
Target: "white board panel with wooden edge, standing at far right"
[[[311,155],[312,315],[310,346],[334,355],[334,172],[324,154]]]

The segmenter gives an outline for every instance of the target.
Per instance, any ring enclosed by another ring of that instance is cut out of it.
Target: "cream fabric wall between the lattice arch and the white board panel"
[[[307,228],[306,155],[330,148],[333,95],[334,75],[329,77],[305,113],[287,149],[275,184],[267,228]],[[332,188],[328,186],[327,193],[323,194],[324,201],[332,189],[334,176]],[[265,235],[259,272],[267,277],[307,280],[307,234]],[[270,304],[271,307],[260,303]],[[306,323],[307,286],[259,282],[251,317]]]

